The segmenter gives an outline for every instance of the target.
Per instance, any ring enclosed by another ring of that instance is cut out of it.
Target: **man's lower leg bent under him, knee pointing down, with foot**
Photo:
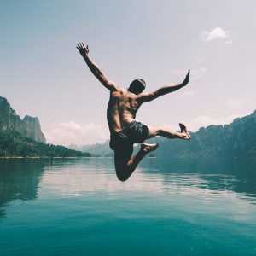
[[[143,160],[143,157],[146,156],[149,152],[154,151],[156,148],[158,148],[158,144],[147,144],[142,143],[140,151],[132,156],[128,160],[121,160],[117,156],[117,154],[114,154],[114,164],[115,164],[115,170],[116,175],[119,178],[120,181],[127,180],[132,172],[136,169],[137,165],[141,160]]]

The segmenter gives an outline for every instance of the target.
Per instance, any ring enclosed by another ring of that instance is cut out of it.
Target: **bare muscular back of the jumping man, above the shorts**
[[[137,98],[137,95],[121,88],[110,92],[107,109],[110,133],[121,131],[135,119],[137,110],[141,106]]]

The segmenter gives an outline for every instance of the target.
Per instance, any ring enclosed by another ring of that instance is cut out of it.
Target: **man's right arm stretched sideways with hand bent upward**
[[[161,87],[158,90],[154,90],[149,93],[142,93],[140,96],[138,96],[137,101],[138,102],[151,102],[159,96],[163,96],[167,93],[181,89],[183,86],[186,86],[189,83],[189,73],[190,73],[190,70],[187,73],[186,78],[183,80],[183,83],[175,84],[175,85],[166,85],[166,86]]]

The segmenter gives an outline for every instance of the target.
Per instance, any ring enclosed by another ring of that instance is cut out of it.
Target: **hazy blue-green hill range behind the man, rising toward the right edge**
[[[164,159],[256,157],[256,110],[253,114],[235,119],[230,125],[201,127],[199,131],[191,132],[191,135],[190,141],[155,137],[148,142],[160,144],[154,156]],[[100,156],[113,156],[108,143],[86,145],[79,149]]]

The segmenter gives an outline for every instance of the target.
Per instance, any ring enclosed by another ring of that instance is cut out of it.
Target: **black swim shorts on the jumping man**
[[[123,130],[111,134],[109,146],[119,160],[129,160],[134,143],[143,143],[148,137],[149,129],[137,121],[132,121]]]

